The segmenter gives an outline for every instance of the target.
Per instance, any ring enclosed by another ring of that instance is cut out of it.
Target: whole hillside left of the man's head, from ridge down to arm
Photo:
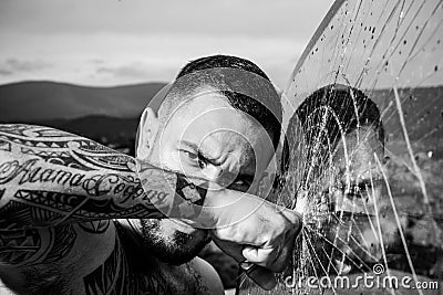
[[[133,155],[140,115],[164,85],[85,87],[54,82],[2,85],[0,123],[50,126]]]

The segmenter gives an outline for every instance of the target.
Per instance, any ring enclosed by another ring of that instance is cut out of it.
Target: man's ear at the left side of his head
[[[146,107],[140,118],[137,137],[135,140],[135,157],[147,159],[154,146],[158,131],[159,120],[151,107]]]

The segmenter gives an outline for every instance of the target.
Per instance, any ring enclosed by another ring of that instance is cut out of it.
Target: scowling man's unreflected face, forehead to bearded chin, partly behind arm
[[[195,97],[169,114],[148,160],[233,190],[256,191],[274,156],[266,130],[216,93]],[[172,219],[143,220],[146,244],[162,260],[183,263],[208,242],[208,233]]]

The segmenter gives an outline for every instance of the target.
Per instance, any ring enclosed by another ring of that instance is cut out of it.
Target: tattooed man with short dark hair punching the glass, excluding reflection
[[[210,236],[271,287],[299,218],[240,191],[254,191],[272,157],[277,98],[249,61],[192,62],[158,118],[145,112],[138,162],[64,131],[1,126],[3,283],[17,294],[222,294],[214,270],[194,259]]]

